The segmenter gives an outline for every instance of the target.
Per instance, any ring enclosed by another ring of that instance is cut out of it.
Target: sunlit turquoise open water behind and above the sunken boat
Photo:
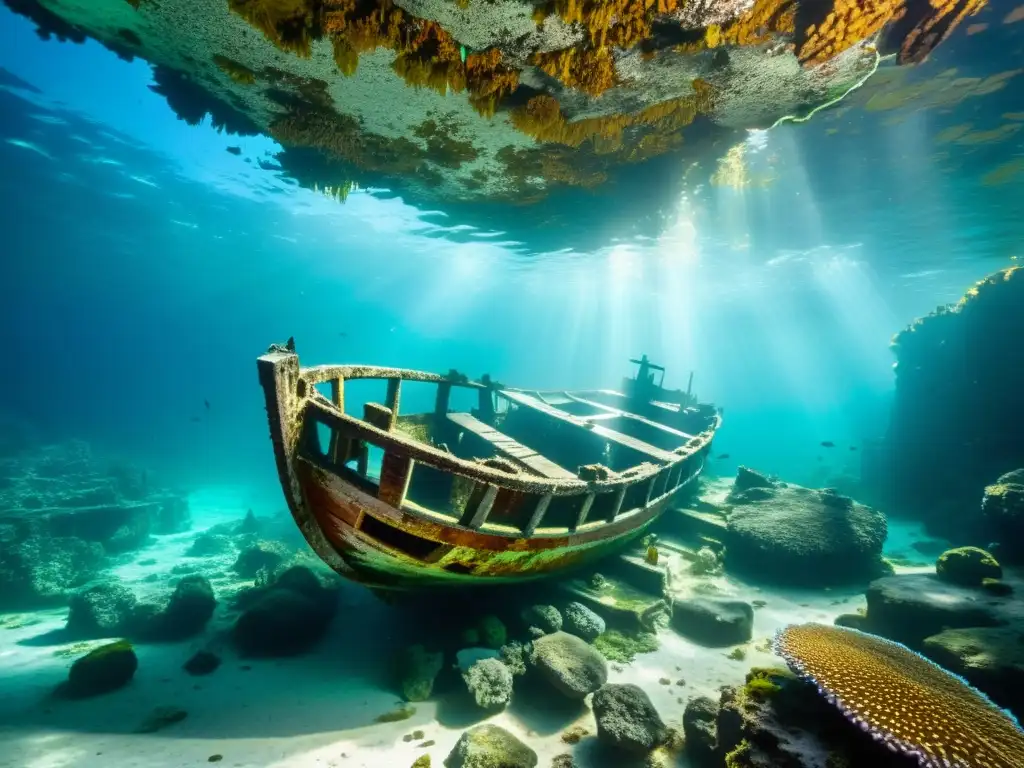
[[[253,360],[288,336],[304,362],[538,388],[616,386],[646,353],[726,409],[722,452],[809,481],[819,441],[884,431],[890,336],[1020,242],[1021,177],[980,183],[1020,134],[949,145],[955,170],[933,156],[943,129],[1013,110],[1021,78],[940,111],[851,106],[752,135],[771,185],[701,184],[655,240],[552,254],[400,200],[294,188],[248,162],[272,142],[177,121],[139,59],[44,43],[10,13],[4,35],[0,66],[38,91],[2,92],[4,338],[25,371],[4,400],[197,482],[272,473]]]

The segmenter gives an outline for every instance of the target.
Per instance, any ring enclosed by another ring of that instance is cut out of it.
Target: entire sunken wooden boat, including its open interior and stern
[[[694,482],[719,410],[689,388],[666,389],[646,355],[633,362],[622,391],[531,391],[455,371],[303,368],[289,340],[258,370],[282,487],[306,541],[348,579],[410,589],[591,564]],[[382,401],[348,406],[346,385],[361,391],[360,380],[377,380]],[[403,388],[423,395],[425,385],[425,412],[402,413]]]

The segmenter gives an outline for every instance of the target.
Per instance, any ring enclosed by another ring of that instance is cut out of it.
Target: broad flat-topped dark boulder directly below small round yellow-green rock
[[[1024,583],[1006,580],[1017,591]],[[1024,624],[1024,603],[974,587],[944,582],[934,573],[879,579],[867,588],[865,629],[920,650],[926,637],[945,629]]]

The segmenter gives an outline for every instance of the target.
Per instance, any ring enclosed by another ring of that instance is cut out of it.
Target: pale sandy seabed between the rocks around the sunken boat
[[[114,575],[140,597],[166,592],[166,580],[146,582],[146,577],[166,573],[184,561],[200,530],[240,519],[247,506],[232,501],[230,494],[194,498],[194,518],[201,524],[186,534],[159,537]],[[887,553],[930,569],[932,563],[909,546],[926,538],[916,526],[891,521]],[[201,563],[204,571],[222,572],[233,555],[189,560]],[[860,589],[769,590],[731,578],[714,581],[724,596],[765,601],[755,612],[754,640],[744,659],[730,658],[729,648],[699,647],[663,630],[658,650],[629,665],[609,666],[609,682],[639,685],[666,723],[675,727],[681,728],[691,697],[717,698],[720,686],[741,683],[750,667],[780,664],[765,642],[780,627],[830,624],[836,615],[864,605]],[[211,582],[218,593],[243,584],[224,575]],[[593,734],[593,715],[585,705],[563,707],[547,696],[514,694],[505,711],[488,717],[475,710],[468,694],[447,692],[416,703],[407,720],[376,722],[400,703],[389,687],[394,649],[417,639],[396,637],[400,630],[395,609],[362,588],[346,584],[339,599],[329,635],[307,654],[240,658],[217,639],[228,626],[221,605],[207,631],[191,641],[137,645],[134,680],[121,690],[84,700],[55,698],[52,691],[67,679],[74,658],[103,641],[67,642],[61,637],[67,608],[8,614],[0,625],[0,767],[182,768],[213,759],[237,768],[408,768],[425,752],[439,766],[459,736],[480,722],[501,725],[526,742],[538,753],[541,768],[566,752],[580,768],[624,765],[602,758],[593,737],[575,745],[562,742],[562,731],[571,725],[583,725]],[[201,648],[214,650],[223,663],[211,675],[193,677],[182,665]],[[187,717],[157,732],[136,732],[154,710],[167,707],[184,710]],[[422,739],[403,740],[416,730],[423,731]],[[434,743],[419,746],[423,740]],[[677,765],[688,766],[685,756]]]

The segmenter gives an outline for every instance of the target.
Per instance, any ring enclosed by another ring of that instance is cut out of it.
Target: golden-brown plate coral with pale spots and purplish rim
[[[1024,731],[962,678],[899,643],[843,627],[785,627],[775,651],[829,702],[928,768],[1020,768]]]

